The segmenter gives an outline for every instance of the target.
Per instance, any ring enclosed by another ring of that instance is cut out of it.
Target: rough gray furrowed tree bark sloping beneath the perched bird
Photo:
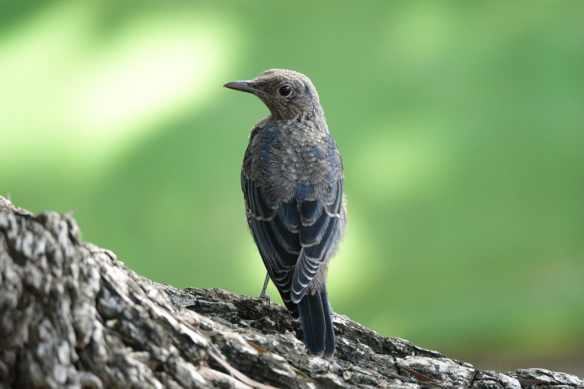
[[[335,358],[310,356],[279,304],[152,282],[84,243],[70,214],[3,197],[0,314],[0,389],[584,388],[543,369],[479,371],[336,314]]]

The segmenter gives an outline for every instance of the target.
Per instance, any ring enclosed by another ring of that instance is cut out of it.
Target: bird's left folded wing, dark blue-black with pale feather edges
[[[291,316],[298,319],[298,309],[290,300],[294,265],[300,254],[300,212],[298,203],[276,201],[266,190],[241,171],[241,189],[249,229],[263,264],[280,292]]]

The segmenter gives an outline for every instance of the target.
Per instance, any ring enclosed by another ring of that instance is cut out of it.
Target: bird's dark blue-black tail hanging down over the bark
[[[335,331],[332,327],[326,286],[322,292],[314,295],[309,290],[298,302],[298,313],[308,353],[331,359],[335,353]]]

